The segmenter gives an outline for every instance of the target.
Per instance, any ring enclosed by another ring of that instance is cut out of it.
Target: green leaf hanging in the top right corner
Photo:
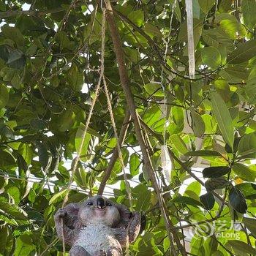
[[[243,0],[241,2],[241,9],[244,16],[244,23],[249,27],[249,29],[253,29],[256,25],[256,1]]]

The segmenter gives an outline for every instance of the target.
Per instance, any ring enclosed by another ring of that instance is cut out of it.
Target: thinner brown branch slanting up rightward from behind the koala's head
[[[127,110],[127,113],[125,113],[125,116],[124,116],[124,121],[123,121],[121,131],[120,131],[120,135],[119,135],[119,138],[118,138],[120,147],[124,144],[124,140],[125,140],[125,137],[127,135],[127,129],[129,127],[130,118],[131,118],[131,116],[129,114],[129,110]],[[117,159],[118,159],[118,148],[116,146],[113,150],[113,154],[112,154],[112,157],[111,157],[110,162],[108,164],[108,167],[105,170],[104,176],[102,178],[102,182],[99,185],[98,195],[102,195],[102,193],[104,192],[106,183],[108,181],[108,178],[110,177],[111,171],[112,171]]]

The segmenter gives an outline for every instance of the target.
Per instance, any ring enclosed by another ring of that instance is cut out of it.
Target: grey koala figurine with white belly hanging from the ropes
[[[138,212],[101,195],[69,203],[56,212],[54,220],[59,238],[63,234],[64,243],[71,246],[70,256],[121,256],[122,248],[140,233]]]

